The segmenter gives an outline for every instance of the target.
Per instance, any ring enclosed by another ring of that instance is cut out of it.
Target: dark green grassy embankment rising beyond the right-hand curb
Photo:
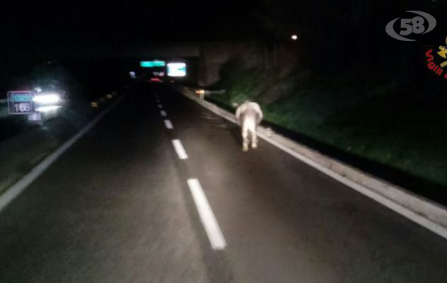
[[[233,71],[212,96],[231,105],[260,103],[265,120],[324,144],[447,186],[447,103],[439,94],[355,75],[306,71],[272,78]]]

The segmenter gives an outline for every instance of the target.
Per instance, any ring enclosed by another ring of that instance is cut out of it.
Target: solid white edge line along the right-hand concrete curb
[[[207,105],[207,101],[198,100],[197,98],[185,95],[191,100],[194,100],[199,105],[202,105],[202,107],[207,108],[211,112],[214,112],[215,114],[225,118],[226,120],[233,122],[237,124],[236,118],[234,118],[234,115],[230,112],[224,112],[225,114],[222,114],[220,108],[218,108],[216,105],[209,103],[210,105]],[[375,200],[376,202],[382,204],[385,207],[388,207],[389,209],[393,210],[397,214],[400,214],[404,216],[407,219],[410,219],[411,221],[414,221],[415,223],[419,224],[420,226],[429,229],[430,231],[436,233],[437,235],[446,238],[447,239],[447,228],[445,226],[442,226],[441,224],[436,223],[435,221],[432,221],[431,219],[427,218],[423,214],[417,214],[416,212],[412,211],[411,209],[408,209],[407,207],[403,206],[402,204],[399,204],[398,202],[395,202],[394,200],[391,200],[390,198],[386,197],[385,195],[381,195],[378,192],[375,192],[371,189],[368,189],[368,187],[365,187],[364,185],[355,183],[352,180],[349,180],[349,178],[344,177],[343,175],[340,175],[339,173],[336,173],[335,171],[330,170],[330,168],[326,168],[325,166],[320,165],[319,163],[316,163],[312,159],[303,156],[302,154],[299,154],[298,152],[294,151],[293,149],[289,149],[287,146],[284,146],[280,144],[279,142],[275,141],[274,139],[270,139],[265,134],[258,133],[258,136],[261,139],[264,139],[269,144],[272,144],[273,146],[276,146],[277,148],[281,149],[282,151],[285,151],[286,153],[290,154],[291,156],[294,156],[295,158],[303,161],[304,163],[308,164],[309,166],[317,169],[318,171],[330,176],[331,178],[334,178],[335,180],[339,181],[340,183],[343,183],[344,185],[347,185],[348,187],[351,187],[352,189],[356,190],[357,192],[360,192],[362,195],[365,195],[366,197],[371,198],[372,200]]]

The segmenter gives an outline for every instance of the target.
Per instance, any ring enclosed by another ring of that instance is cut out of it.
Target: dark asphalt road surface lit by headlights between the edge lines
[[[447,241],[146,83],[0,213],[0,282],[444,283]]]

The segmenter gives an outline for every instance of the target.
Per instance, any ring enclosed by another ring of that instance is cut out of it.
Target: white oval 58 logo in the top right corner
[[[415,16],[414,18],[401,18],[400,19],[400,32],[397,34],[394,30],[394,23],[399,20],[399,18],[395,18],[393,21],[390,21],[388,25],[385,27],[386,33],[397,40],[402,41],[414,41],[411,38],[403,37],[402,35],[410,35],[411,33],[415,33],[417,35],[428,33],[430,30],[433,30],[436,26],[436,19],[431,16],[429,13],[424,13],[421,11],[407,11],[409,13],[416,13],[419,16]],[[428,28],[425,27],[424,23],[427,21],[429,23]]]

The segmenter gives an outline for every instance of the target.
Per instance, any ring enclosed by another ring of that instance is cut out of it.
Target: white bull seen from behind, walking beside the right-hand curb
[[[251,141],[253,149],[257,148],[256,127],[262,120],[262,110],[259,104],[245,101],[236,109],[236,118],[242,129],[242,150],[248,151],[248,144]]]

